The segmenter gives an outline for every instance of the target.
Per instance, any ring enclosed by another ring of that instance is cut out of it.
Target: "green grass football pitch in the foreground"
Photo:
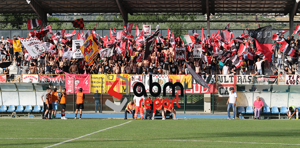
[[[128,121],[131,119],[0,119],[0,147],[46,147],[66,140],[71,141],[53,147],[300,146],[300,120]]]

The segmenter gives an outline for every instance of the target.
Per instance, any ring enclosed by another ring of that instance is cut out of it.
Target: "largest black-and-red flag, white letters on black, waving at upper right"
[[[251,30],[251,31],[248,31],[248,34],[260,44],[260,46],[262,47],[262,49],[264,51],[262,53],[264,53],[264,54],[270,53],[270,55],[271,55],[271,52],[272,52],[272,49],[271,49],[272,26],[265,26],[265,27],[261,27],[256,30]],[[265,55],[265,56],[269,60],[269,57],[267,55]]]

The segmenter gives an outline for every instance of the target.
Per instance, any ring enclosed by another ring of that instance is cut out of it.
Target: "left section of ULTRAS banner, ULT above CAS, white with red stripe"
[[[235,75],[218,75],[219,97],[228,97],[231,88],[235,87]]]

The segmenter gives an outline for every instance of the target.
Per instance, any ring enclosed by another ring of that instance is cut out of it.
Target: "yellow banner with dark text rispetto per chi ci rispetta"
[[[96,90],[98,90],[99,93],[101,93],[101,91],[103,93],[105,93],[106,92],[105,91],[105,88],[106,88],[105,82],[106,82],[105,74],[92,74],[91,75],[91,92],[95,93]]]

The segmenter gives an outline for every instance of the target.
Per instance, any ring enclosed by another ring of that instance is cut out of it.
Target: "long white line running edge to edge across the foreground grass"
[[[123,123],[125,124],[125,123]],[[119,125],[117,125],[119,126]],[[105,130],[105,129],[104,129]],[[92,133],[91,133],[92,134]],[[82,136],[83,137],[83,136]],[[79,137],[78,137],[79,138]],[[78,139],[76,138],[76,139]],[[70,139],[73,138],[0,138],[0,139]],[[236,142],[236,141],[209,141],[209,140],[170,140],[170,139],[107,139],[107,138],[81,138],[85,140],[161,140],[161,141],[194,141],[194,142],[224,142],[224,143],[251,143],[251,144],[281,144],[281,145],[300,145],[300,144],[289,144],[289,143],[258,143],[258,142]],[[69,141],[70,141],[69,140]],[[54,146],[54,145],[53,145]]]

